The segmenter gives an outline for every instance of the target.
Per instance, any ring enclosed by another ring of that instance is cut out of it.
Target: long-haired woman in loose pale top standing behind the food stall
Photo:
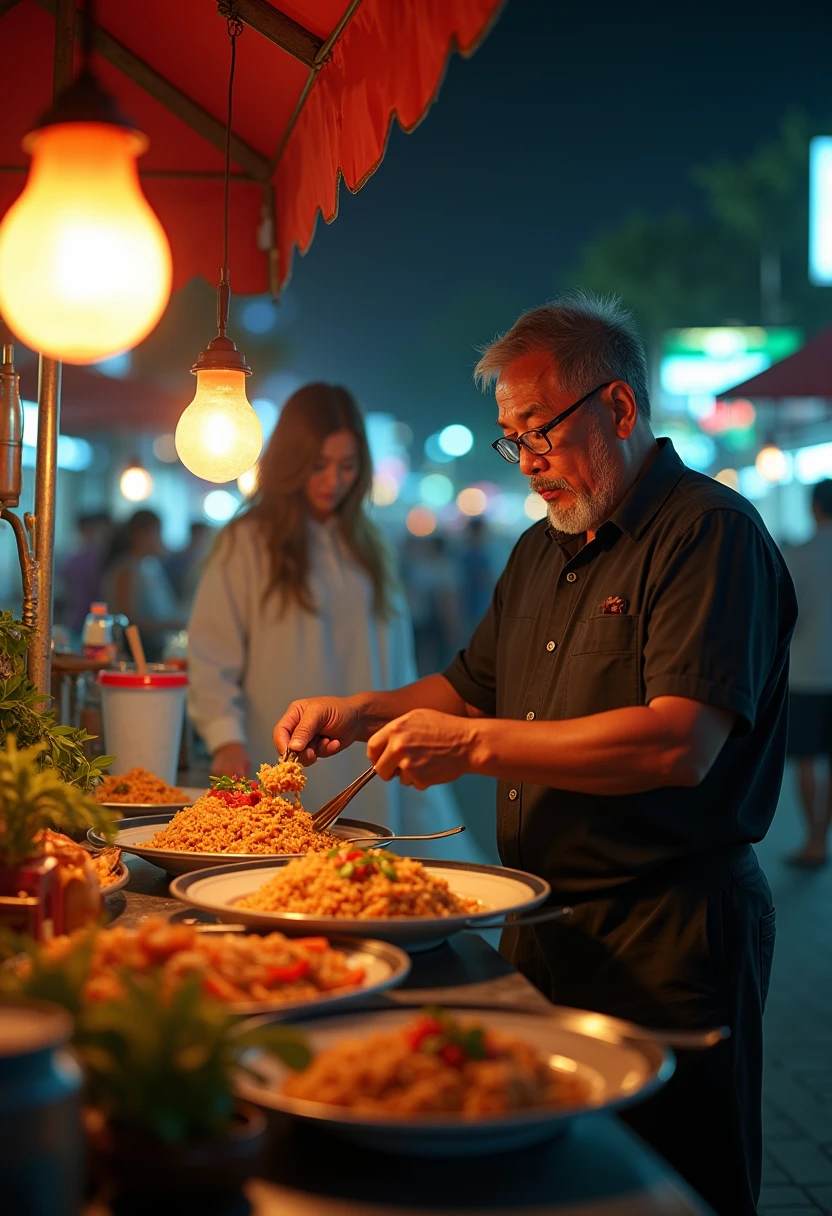
[[[189,623],[189,709],[210,772],[272,762],[272,727],[309,688],[347,697],[416,679],[410,617],[365,511],[372,466],[353,395],[298,389],[260,458],[259,488],[220,534]],[[316,810],[366,769],[359,749],[309,773]],[[394,831],[459,823],[449,790],[371,782],[355,814]]]

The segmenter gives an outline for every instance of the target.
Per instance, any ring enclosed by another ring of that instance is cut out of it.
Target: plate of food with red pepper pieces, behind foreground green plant
[[[137,928],[97,925],[51,938],[2,968],[4,986],[21,985],[75,959],[85,967],[85,1003],[124,995],[125,978],[158,974],[169,996],[198,975],[202,990],[241,1015],[297,1014],[364,1000],[400,984],[410,959],[395,946],[360,938],[287,938],[148,917]]]

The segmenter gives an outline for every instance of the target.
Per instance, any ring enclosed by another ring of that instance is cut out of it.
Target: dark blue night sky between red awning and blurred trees
[[[774,11],[774,9],[772,9]],[[508,0],[439,100],[296,258],[280,330],[302,378],[369,410],[476,424],[472,347],[558,291],[633,210],[696,210],[690,170],[798,106],[832,130],[832,5]],[[489,416],[490,422],[490,416]]]

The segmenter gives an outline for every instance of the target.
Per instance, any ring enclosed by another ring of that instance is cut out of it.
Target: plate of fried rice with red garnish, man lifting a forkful
[[[253,861],[328,851],[355,837],[380,840],[393,833],[378,823],[342,818],[316,832],[298,799],[305,783],[297,761],[262,765],[258,778],[212,777],[212,788],[191,806],[131,818],[116,844],[172,874],[217,866],[223,860]],[[101,838],[94,832],[92,844]]]

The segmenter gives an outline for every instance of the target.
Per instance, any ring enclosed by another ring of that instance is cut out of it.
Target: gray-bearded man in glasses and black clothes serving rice
[[[381,777],[420,788],[496,777],[504,862],[575,910],[501,948],[558,1004],[731,1028],[628,1119],[723,1216],[752,1216],[775,913],[751,843],[783,771],[792,582],[754,508],[653,437],[617,304],[524,314],[477,376],[549,518],[444,675],[294,702],[275,743],[309,764],[367,741]]]

